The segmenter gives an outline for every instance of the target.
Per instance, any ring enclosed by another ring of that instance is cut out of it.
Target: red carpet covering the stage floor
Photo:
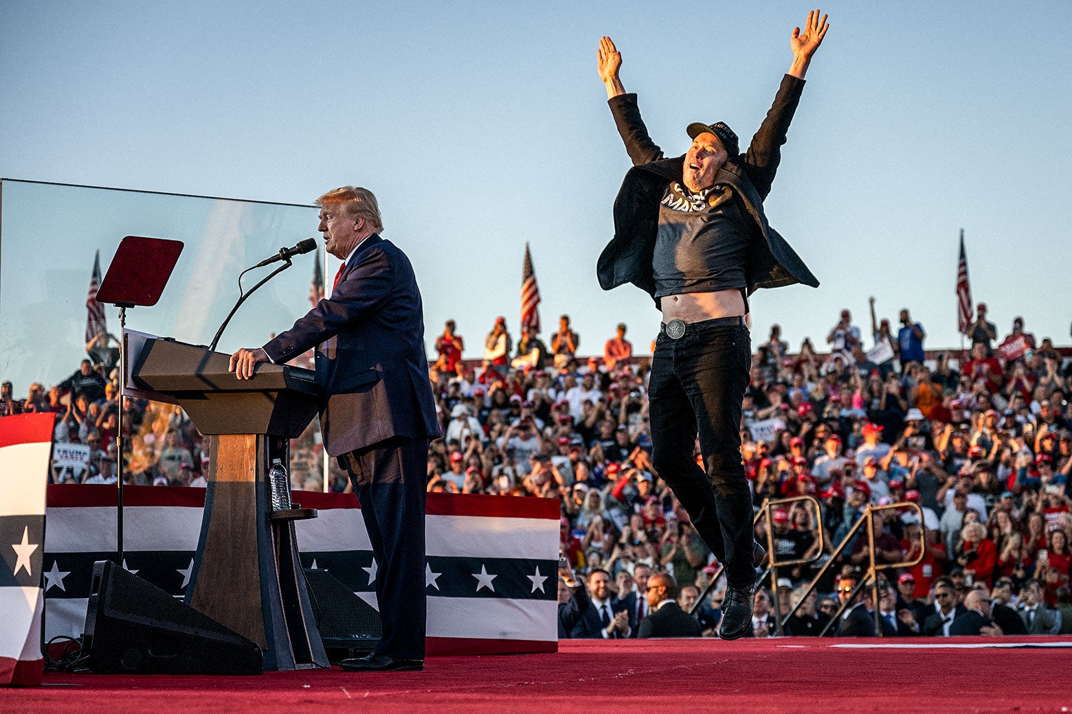
[[[976,649],[983,643],[1006,647]],[[1034,647],[1006,649],[1015,643]],[[1070,647],[1008,637],[572,640],[557,654],[435,657],[423,672],[45,674],[45,686],[0,689],[0,712],[1069,712]]]

